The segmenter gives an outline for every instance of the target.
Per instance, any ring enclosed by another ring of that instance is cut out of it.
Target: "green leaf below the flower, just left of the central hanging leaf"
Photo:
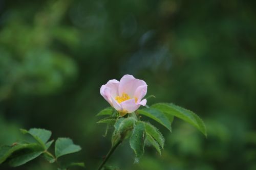
[[[119,140],[123,140],[129,136],[129,131],[133,129],[135,119],[133,117],[119,118],[115,123],[115,131],[112,135],[112,146],[114,146]]]

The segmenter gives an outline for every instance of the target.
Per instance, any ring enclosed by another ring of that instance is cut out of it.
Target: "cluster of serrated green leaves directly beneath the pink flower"
[[[111,115],[112,112],[112,109],[106,108],[100,112],[100,115]],[[161,155],[161,149],[163,149],[165,141],[162,133],[155,126],[139,120],[138,117],[140,115],[152,118],[170,132],[172,130],[171,123],[174,120],[174,116],[177,116],[197,127],[206,136],[205,125],[195,113],[173,104],[158,103],[152,107],[139,109],[136,113],[127,114],[126,118],[109,116],[98,121],[98,123],[108,124],[106,132],[110,126],[114,126],[112,148],[124,139],[130,138],[130,146],[135,153],[135,163],[138,163],[143,156],[145,143],[152,145]]]

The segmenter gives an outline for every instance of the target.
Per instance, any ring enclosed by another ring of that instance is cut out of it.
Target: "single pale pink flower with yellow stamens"
[[[120,114],[132,113],[140,105],[146,105],[147,85],[143,80],[135,79],[132,75],[124,75],[120,82],[110,80],[100,88],[100,94]],[[142,100],[143,99],[143,100]]]

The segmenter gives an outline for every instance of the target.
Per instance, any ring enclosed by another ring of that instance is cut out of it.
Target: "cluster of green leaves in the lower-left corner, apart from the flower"
[[[55,156],[48,149],[54,140],[47,142],[51,137],[51,131],[45,129],[25,129],[20,130],[23,134],[30,134],[36,141],[33,142],[15,142],[12,145],[3,145],[0,147],[0,164],[8,162],[10,166],[16,167],[23,165],[38,156],[42,156],[49,163],[57,162],[57,158],[63,155],[75,153],[81,150],[78,145],[75,145],[69,138],[58,138],[55,142]],[[84,167],[83,163],[69,163],[62,165],[58,162],[60,169],[67,169],[72,166]]]

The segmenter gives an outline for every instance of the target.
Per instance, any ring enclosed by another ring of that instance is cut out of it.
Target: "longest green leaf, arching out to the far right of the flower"
[[[194,112],[169,103],[158,103],[152,105],[151,107],[183,119],[185,122],[193,125],[205,136],[207,136],[206,127],[203,120]]]

